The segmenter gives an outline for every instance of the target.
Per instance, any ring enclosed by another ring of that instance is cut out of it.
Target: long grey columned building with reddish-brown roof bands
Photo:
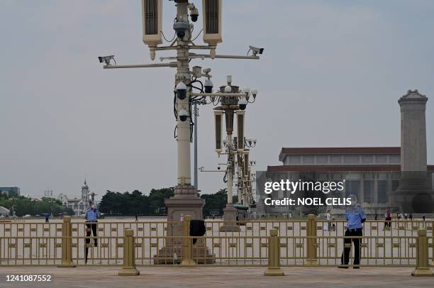
[[[391,207],[388,194],[399,187],[401,175],[400,147],[355,148],[282,148],[279,160],[283,165],[268,166],[267,172],[257,172],[258,213],[294,214],[294,206],[267,206],[264,199],[283,199],[284,191],[265,194],[265,182],[281,179],[313,182],[345,179],[344,194],[355,194],[368,213]],[[434,172],[434,165],[428,165]],[[434,178],[433,178],[434,182]]]

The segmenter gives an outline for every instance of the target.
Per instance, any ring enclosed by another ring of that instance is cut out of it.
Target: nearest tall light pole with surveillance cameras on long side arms
[[[189,68],[191,60],[211,59],[250,59],[258,60],[262,54],[263,48],[249,46],[250,55],[216,55],[216,46],[222,42],[221,33],[221,0],[202,0],[203,16],[203,33],[204,43],[207,45],[196,45],[194,40],[199,36],[193,37],[193,23],[198,20],[199,11],[194,4],[187,0],[174,0],[177,6],[177,16],[175,19],[169,18],[173,23],[174,38],[168,46],[162,44],[162,0],[142,0],[143,15],[143,42],[150,48],[150,58],[155,60],[155,54],[160,50],[176,50],[175,57],[160,57],[160,60],[173,60],[172,62],[163,62],[157,64],[139,64],[139,65],[111,65],[114,55],[101,56],[99,62],[104,63],[104,69],[116,68],[147,68],[147,67],[173,67],[177,69],[174,76],[174,114],[177,119],[177,185],[174,187],[174,196],[165,199],[167,206],[167,221],[179,221],[182,215],[190,215],[192,219],[202,219],[202,207],[204,199],[197,196],[196,187],[191,185],[191,163],[190,163],[190,143],[193,116],[191,115],[191,101],[194,99],[226,99],[227,97],[236,99],[244,96],[234,93],[212,93],[212,82],[210,69],[202,70],[201,67]],[[200,32],[199,32],[200,33]],[[171,41],[169,41],[171,42]],[[208,50],[209,53],[199,54],[190,52],[190,50]],[[248,54],[248,52],[247,52]],[[201,88],[194,84],[200,82],[196,80],[200,77],[206,77],[205,83]],[[192,89],[199,89],[201,93],[194,93]],[[196,170],[196,169],[195,169]],[[177,227],[169,227],[167,236],[180,235]],[[159,255],[167,261],[169,253],[181,253],[181,243],[177,240],[167,240],[167,245],[172,246],[160,250]],[[203,247],[203,246],[202,246]],[[176,248],[176,249],[174,249]],[[199,248],[197,248],[199,249]],[[202,248],[204,249],[204,248]],[[204,255],[204,251],[199,252]]]

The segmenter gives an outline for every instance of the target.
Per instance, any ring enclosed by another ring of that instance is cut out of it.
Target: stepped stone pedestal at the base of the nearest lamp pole
[[[181,216],[190,215],[192,220],[203,220],[202,207],[205,200],[197,196],[194,186],[182,185],[174,189],[174,196],[165,199],[167,206],[167,236],[182,236]],[[179,221],[179,223],[170,223]],[[172,264],[174,254],[178,263],[182,262],[182,238],[167,238],[165,246],[154,255],[155,264]],[[206,248],[204,240],[199,239],[193,245],[193,258],[198,264],[211,264],[216,256]]]

